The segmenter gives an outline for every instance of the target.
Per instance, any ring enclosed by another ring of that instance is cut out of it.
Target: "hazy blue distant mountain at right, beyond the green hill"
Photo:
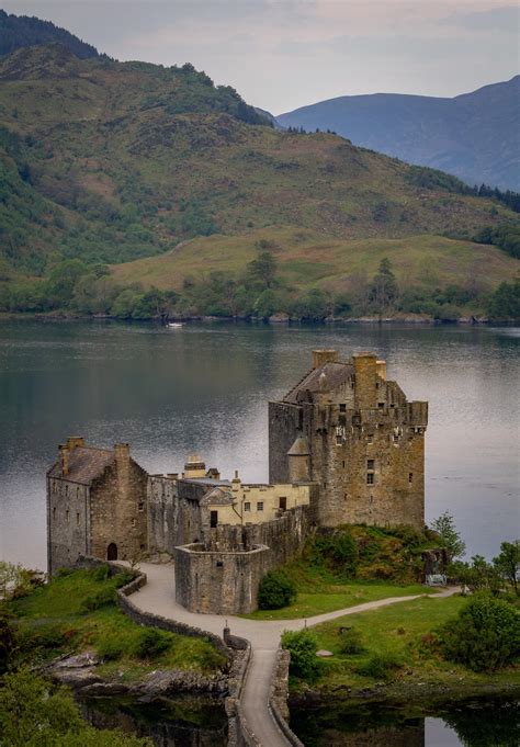
[[[329,99],[276,117],[331,129],[354,145],[520,191],[520,76],[453,99],[375,93]]]

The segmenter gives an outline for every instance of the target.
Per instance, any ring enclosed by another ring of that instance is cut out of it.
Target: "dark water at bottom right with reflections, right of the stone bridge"
[[[291,725],[306,747],[518,747],[520,704],[474,701],[416,711],[292,708]]]

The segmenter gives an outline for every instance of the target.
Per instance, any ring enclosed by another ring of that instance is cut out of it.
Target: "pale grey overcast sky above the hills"
[[[456,95],[519,71],[516,3],[0,0],[121,60],[192,63],[280,114],[338,95]]]

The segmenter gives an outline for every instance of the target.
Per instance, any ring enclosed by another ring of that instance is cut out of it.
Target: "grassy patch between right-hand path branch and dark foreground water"
[[[381,678],[362,676],[357,667],[374,655],[393,655],[403,668],[393,672],[393,687],[442,684],[454,689],[478,684],[520,686],[520,667],[487,675],[476,674],[461,665],[444,661],[421,643],[446,620],[456,615],[465,600],[460,597],[444,599],[421,598],[393,607],[339,618],[313,629],[319,648],[332,652],[330,659],[321,663],[321,677],[317,688],[324,691],[342,688],[362,689],[381,682]],[[340,654],[341,626],[361,631],[365,650],[357,655]],[[315,686],[316,687],[316,686]]]

